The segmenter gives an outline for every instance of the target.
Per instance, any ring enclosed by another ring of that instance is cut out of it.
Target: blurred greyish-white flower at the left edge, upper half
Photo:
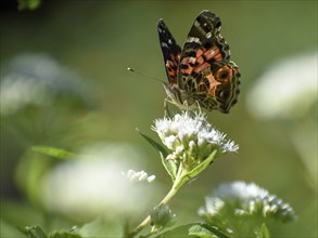
[[[14,114],[28,104],[51,105],[63,97],[88,103],[79,76],[47,54],[21,54],[1,68],[0,113]]]

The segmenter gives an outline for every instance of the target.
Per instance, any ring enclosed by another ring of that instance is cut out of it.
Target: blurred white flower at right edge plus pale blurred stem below
[[[287,121],[306,178],[317,190],[317,87],[318,55],[296,55],[274,63],[246,97],[250,113],[258,119]]]

